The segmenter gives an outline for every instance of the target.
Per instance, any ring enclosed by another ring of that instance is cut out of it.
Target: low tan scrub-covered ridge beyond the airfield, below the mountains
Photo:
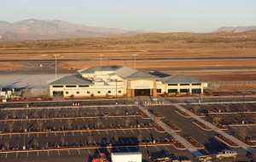
[[[72,47],[85,49],[141,50],[162,48],[256,47],[256,31],[242,33],[150,33],[108,38],[61,39],[45,41],[2,42],[0,47],[50,49]]]

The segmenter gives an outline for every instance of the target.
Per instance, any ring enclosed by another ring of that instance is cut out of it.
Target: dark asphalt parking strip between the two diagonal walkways
[[[172,105],[157,105],[157,106],[150,106],[149,109],[153,109],[158,111],[161,115],[165,116],[164,121],[170,121],[177,127],[179,127],[182,131],[178,131],[177,133],[180,136],[189,136],[193,137],[197,142],[201,143],[204,148],[200,149],[202,154],[214,154],[218,153],[224,148],[229,148],[231,150],[235,150],[238,153],[237,160],[248,160],[246,155],[247,151],[243,148],[231,148],[230,146],[226,145],[224,142],[219,141],[215,136],[217,132],[215,131],[205,131],[201,129],[201,127],[196,126],[193,121],[194,119],[189,117],[183,117],[182,115],[177,114],[177,108]],[[252,128],[252,129],[250,129]],[[253,133],[253,128],[251,126],[250,129]],[[232,131],[231,129],[227,130],[228,133]],[[254,130],[255,131],[255,130]]]

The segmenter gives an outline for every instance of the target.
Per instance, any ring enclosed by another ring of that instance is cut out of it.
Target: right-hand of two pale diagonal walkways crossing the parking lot
[[[247,152],[253,154],[255,153],[255,150],[251,147],[249,147],[246,143],[241,142],[240,140],[236,139],[236,137],[230,136],[228,133],[220,130],[217,126],[213,126],[211,123],[207,122],[206,120],[201,119],[199,116],[195,115],[194,113],[190,112],[187,109],[184,109],[182,106],[178,105],[177,103],[173,104],[175,107],[177,107],[177,109],[182,110],[183,112],[187,113],[188,115],[190,115],[192,118],[194,118],[195,120],[200,121],[201,123],[203,123],[204,125],[212,128],[212,131],[216,131],[218,134],[227,137],[228,139],[230,139],[232,142],[235,142],[236,144],[238,144],[241,148],[244,148],[247,150]]]

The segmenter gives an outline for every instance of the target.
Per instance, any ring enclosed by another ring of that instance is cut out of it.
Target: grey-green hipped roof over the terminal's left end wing
[[[49,85],[92,85],[93,82],[82,78],[81,75],[68,75],[59,79],[49,81]]]

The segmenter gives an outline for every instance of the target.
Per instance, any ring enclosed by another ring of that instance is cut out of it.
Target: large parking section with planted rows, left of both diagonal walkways
[[[84,103],[86,107],[59,108],[67,104],[73,103],[45,108],[3,106],[0,159],[50,161],[54,157],[56,161],[90,161],[98,152],[109,158],[112,152],[138,150],[145,161],[149,156],[166,155],[173,159],[195,159],[188,150],[174,148],[166,140],[170,135],[155,130],[154,121],[137,113],[140,110],[136,105],[89,102]]]

